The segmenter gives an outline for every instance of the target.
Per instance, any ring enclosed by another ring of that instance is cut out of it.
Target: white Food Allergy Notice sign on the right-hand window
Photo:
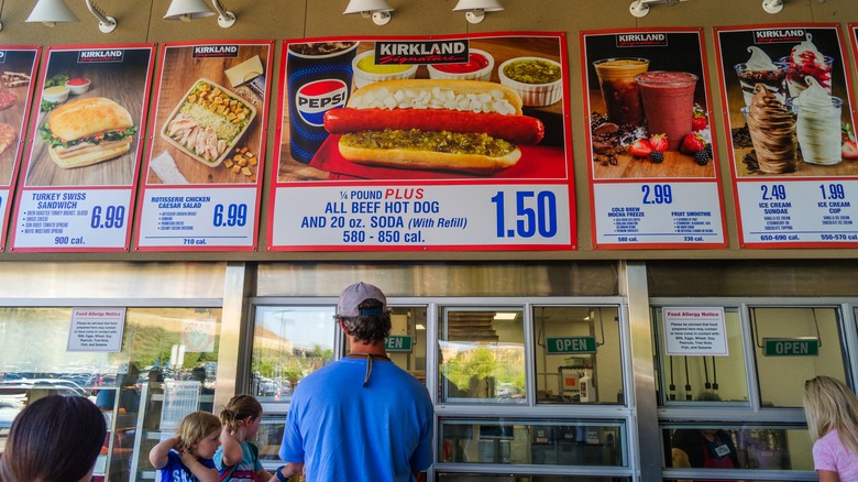
[[[662,308],[661,315],[667,354],[729,354],[724,308]]]

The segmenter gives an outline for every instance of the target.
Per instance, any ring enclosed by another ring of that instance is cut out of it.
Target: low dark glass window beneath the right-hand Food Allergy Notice
[[[813,470],[813,442],[806,427],[662,425],[661,436],[666,468],[703,468],[708,461],[710,467],[723,469]],[[733,467],[725,467],[719,460]]]

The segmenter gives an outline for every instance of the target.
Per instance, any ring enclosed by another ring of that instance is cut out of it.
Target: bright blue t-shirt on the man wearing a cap
[[[342,359],[304,379],[292,398],[280,459],[304,462],[307,482],[414,480],[432,464],[432,403],[388,361]]]

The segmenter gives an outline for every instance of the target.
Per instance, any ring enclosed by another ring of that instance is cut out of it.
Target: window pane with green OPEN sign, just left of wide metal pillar
[[[623,404],[617,308],[534,307],[538,403]]]

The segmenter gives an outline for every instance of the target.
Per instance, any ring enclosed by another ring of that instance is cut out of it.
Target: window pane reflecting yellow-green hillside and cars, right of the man
[[[440,401],[526,403],[520,308],[443,308]]]

